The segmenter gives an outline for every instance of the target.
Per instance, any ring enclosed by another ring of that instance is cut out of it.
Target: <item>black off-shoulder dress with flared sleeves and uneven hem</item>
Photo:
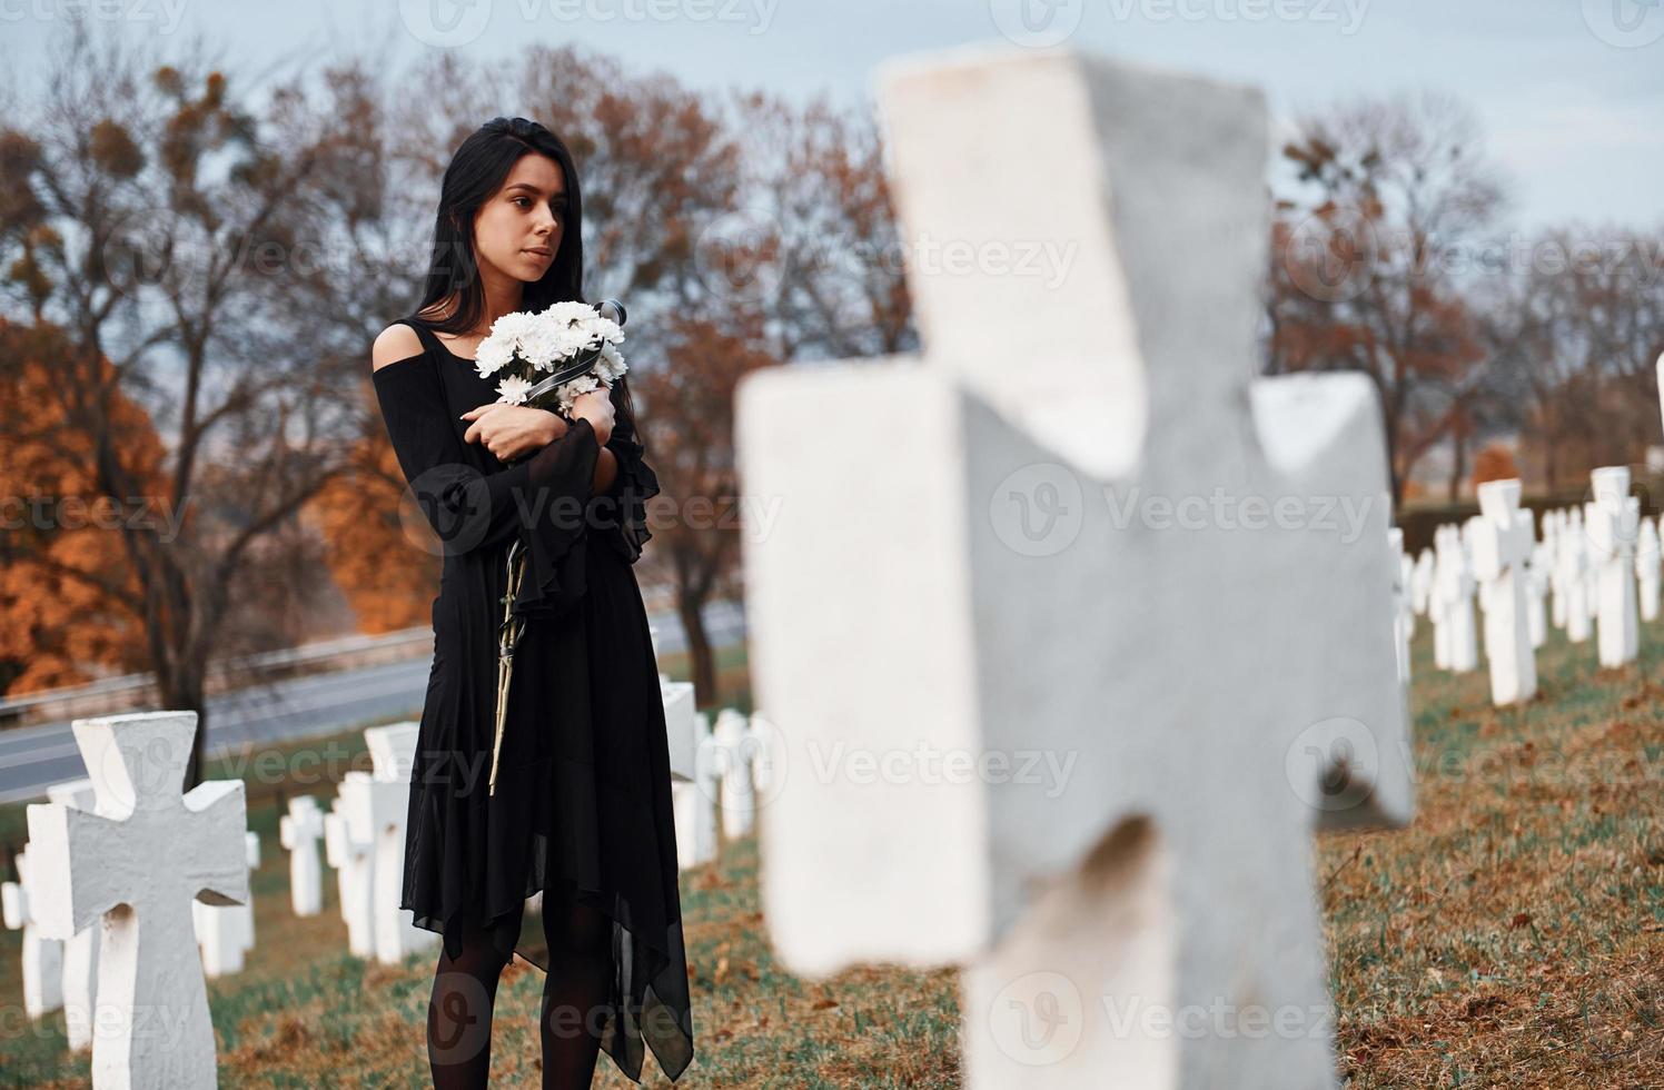
[[[577,419],[504,464],[464,443],[463,413],[498,399],[473,359],[404,318],[424,351],[371,373],[399,469],[443,547],[434,657],[411,772],[404,897],[416,927],[461,952],[461,925],[489,927],[549,970],[524,900],[574,895],[612,919],[612,997],[601,1047],[641,1082],[642,1042],[677,1078],[694,1055],[657,662],[636,569],[659,493],[622,413],[607,441],[619,473],[592,494],[601,446]],[[614,388],[614,406],[619,403]],[[496,794],[498,626],[506,552],[526,549]],[[562,889],[564,884],[564,889]]]

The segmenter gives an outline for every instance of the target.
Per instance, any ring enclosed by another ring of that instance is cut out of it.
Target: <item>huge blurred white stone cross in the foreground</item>
[[[973,1090],[1330,1087],[1310,834],[1413,790],[1376,394],[1251,379],[1263,98],[965,48],[882,102],[927,353],[737,393],[772,944],[965,964]]]

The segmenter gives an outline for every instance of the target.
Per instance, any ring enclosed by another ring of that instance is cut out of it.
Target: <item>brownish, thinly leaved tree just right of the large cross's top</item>
[[[1484,358],[1451,256],[1483,238],[1503,185],[1473,113],[1436,93],[1303,118],[1283,148],[1270,369],[1356,369],[1381,394],[1393,498],[1439,439],[1466,449]]]

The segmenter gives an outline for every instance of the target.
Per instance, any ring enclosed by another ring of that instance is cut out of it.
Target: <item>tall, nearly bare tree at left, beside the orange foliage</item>
[[[256,543],[333,476],[356,416],[338,396],[346,359],[286,310],[300,245],[318,240],[311,186],[351,135],[323,113],[308,138],[273,140],[245,98],[200,57],[163,63],[80,30],[33,115],[0,133],[13,286],[68,344],[63,428],[118,506],[156,498],[118,456],[113,403],[148,409],[168,448],[160,506],[178,524],[123,524],[121,544],[160,699],[198,714],[186,787],[233,584],[260,577]],[[295,110],[293,93],[275,102]]]

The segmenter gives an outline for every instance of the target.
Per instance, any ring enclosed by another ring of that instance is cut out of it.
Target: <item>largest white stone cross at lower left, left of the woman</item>
[[[248,900],[241,780],[181,794],[196,712],[77,719],[97,810],[28,807],[42,930],[70,939],[103,919],[95,1087],[213,1087],[215,1038],[191,900]]]

